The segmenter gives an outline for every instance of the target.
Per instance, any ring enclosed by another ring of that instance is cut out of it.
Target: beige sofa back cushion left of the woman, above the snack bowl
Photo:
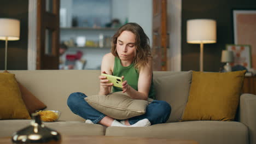
[[[60,121],[84,121],[67,106],[73,92],[97,94],[100,70],[9,70],[16,79],[47,106],[61,111]]]

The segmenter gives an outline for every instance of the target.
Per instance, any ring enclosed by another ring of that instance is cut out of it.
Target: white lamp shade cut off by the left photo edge
[[[0,18],[0,40],[19,40],[20,21],[16,19]]]

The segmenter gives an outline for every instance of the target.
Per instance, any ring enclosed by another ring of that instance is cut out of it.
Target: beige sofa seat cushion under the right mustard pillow
[[[159,137],[195,140],[198,143],[248,143],[248,129],[240,122],[189,121],[149,127],[108,127],[106,136]]]

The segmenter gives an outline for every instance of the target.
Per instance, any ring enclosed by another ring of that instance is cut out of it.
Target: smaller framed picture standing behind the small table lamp
[[[233,52],[234,62],[230,63],[231,66],[242,65],[247,70],[252,68],[250,45],[226,44],[226,50]]]

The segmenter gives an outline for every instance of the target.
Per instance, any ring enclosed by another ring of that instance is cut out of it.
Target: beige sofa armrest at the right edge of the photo
[[[242,94],[238,121],[249,129],[249,143],[256,143],[256,95]]]

